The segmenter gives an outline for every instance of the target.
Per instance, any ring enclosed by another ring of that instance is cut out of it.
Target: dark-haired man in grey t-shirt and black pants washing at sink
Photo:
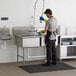
[[[46,21],[44,30],[41,30],[43,33],[47,33],[45,35],[45,44],[46,44],[46,58],[47,66],[51,66],[51,64],[55,65],[57,63],[57,55],[56,55],[56,27],[57,27],[57,20],[52,14],[51,9],[46,9],[44,14],[49,18]],[[43,17],[40,17],[40,20],[44,21]]]

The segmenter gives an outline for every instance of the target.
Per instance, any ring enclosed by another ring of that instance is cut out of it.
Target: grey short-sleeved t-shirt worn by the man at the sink
[[[50,19],[48,19],[48,21],[46,22],[46,26],[48,26],[48,30],[50,32],[52,32],[52,34],[50,35],[49,39],[50,40],[56,39],[56,27],[57,27],[56,18],[55,17],[51,17]]]

